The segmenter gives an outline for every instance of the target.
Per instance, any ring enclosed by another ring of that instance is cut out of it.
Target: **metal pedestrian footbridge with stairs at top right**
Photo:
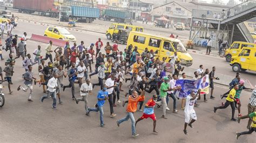
[[[211,23],[213,28],[227,30],[230,43],[235,40],[254,43],[243,22],[256,16],[256,0],[248,0],[223,11],[192,10],[192,21]],[[217,36],[221,37],[218,35]]]

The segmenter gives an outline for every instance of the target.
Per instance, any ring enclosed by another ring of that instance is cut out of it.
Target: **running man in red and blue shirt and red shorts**
[[[144,91],[143,91],[144,92]],[[157,95],[154,94],[153,97],[147,101],[147,104],[144,107],[144,112],[142,117],[140,117],[136,122],[135,122],[135,127],[137,125],[137,123],[143,119],[147,119],[147,118],[151,118],[153,120],[153,132],[154,133],[158,133],[156,131],[156,125],[157,125],[157,118],[156,115],[154,114],[154,105],[156,105],[156,101],[157,101]],[[158,104],[157,104],[158,105]],[[160,105],[158,105],[157,107],[160,107]]]

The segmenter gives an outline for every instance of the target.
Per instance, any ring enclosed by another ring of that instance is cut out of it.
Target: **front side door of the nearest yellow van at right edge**
[[[238,61],[241,64],[241,69],[248,69],[249,64],[251,62],[250,58],[251,50],[250,49],[243,49],[240,54],[238,55]]]

